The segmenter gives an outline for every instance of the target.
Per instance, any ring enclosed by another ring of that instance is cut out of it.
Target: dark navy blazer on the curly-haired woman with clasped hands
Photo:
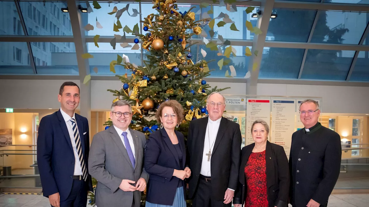
[[[182,150],[182,166],[179,166],[178,153],[165,129],[159,129],[150,134],[146,142],[144,164],[146,172],[150,175],[146,201],[150,203],[173,205],[180,180],[173,176],[173,172],[174,169],[183,170],[186,162],[184,136],[179,131],[175,133]],[[185,189],[184,181],[180,180],[180,182],[183,182],[183,189]]]

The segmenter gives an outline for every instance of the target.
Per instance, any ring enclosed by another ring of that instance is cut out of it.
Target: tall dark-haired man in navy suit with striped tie
[[[44,196],[54,207],[86,207],[93,191],[88,172],[89,125],[75,113],[79,87],[65,82],[59,90],[61,109],[41,119],[37,162]]]

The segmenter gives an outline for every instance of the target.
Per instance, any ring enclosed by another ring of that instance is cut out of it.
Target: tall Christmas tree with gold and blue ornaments
[[[155,119],[156,109],[162,102],[177,100],[182,104],[184,117],[182,124],[176,129],[187,137],[189,123],[192,119],[199,119],[207,115],[205,108],[207,95],[214,91],[227,88],[211,88],[206,83],[210,76],[208,62],[200,60],[193,62],[190,47],[193,35],[201,34],[202,27],[208,20],[195,20],[195,13],[190,8],[184,13],[177,11],[176,0],[156,0],[152,7],[157,14],[150,14],[142,20],[143,30],[147,34],[136,35],[135,43],[142,41],[142,48],[147,60],[143,66],[136,66],[118,55],[114,65],[123,66],[131,71],[117,75],[123,83],[119,90],[108,90],[116,97],[113,102],[127,100],[132,105],[131,129],[142,131],[148,137],[159,128]],[[111,64],[112,65],[112,64]],[[109,120],[106,129],[112,126]],[[93,179],[94,186],[96,180]],[[94,206],[94,194],[89,194],[90,204]],[[142,201],[145,201],[143,194]],[[142,203],[143,205],[143,203]]]

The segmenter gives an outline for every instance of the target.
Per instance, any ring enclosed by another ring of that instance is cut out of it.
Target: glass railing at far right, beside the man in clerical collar
[[[369,144],[342,145],[341,169],[335,189],[369,189]]]

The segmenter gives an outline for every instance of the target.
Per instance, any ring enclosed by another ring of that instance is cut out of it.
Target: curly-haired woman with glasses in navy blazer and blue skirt
[[[184,179],[191,175],[184,167],[184,136],[175,130],[183,120],[183,108],[175,100],[163,102],[156,112],[160,129],[150,134],[145,147],[145,170],[149,173],[146,207],[186,207]]]

